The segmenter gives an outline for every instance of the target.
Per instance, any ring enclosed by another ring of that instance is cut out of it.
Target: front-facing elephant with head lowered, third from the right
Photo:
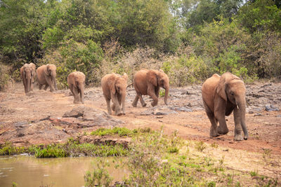
[[[124,74],[107,74],[101,79],[101,87],[103,88],[103,95],[107,104],[107,112],[111,115],[110,99],[112,99],[112,110],[115,115],[121,116],[125,114],[125,98],[127,88],[128,76]],[[120,106],[122,104],[122,111]]]

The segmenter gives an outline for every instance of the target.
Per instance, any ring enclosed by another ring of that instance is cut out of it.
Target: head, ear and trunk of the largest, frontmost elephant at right
[[[245,123],[246,88],[244,82],[239,77],[227,72],[223,74],[218,81],[216,93],[226,102],[229,101],[233,105],[237,106],[238,116],[240,118],[240,123],[244,132],[244,139],[248,139],[249,135]],[[229,114],[230,113],[226,113],[226,115]]]

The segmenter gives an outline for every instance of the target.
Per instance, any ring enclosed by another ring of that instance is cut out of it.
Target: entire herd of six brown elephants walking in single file
[[[20,68],[25,93],[33,89],[35,64],[24,64]],[[37,82],[39,90],[45,85],[44,90],[50,87],[50,91],[57,90],[55,73],[56,67],[53,64],[46,64],[38,67],[36,70]],[[125,111],[125,98],[128,76],[119,74],[107,74],[101,79],[101,87],[107,104],[107,113],[110,115],[112,111],[115,115],[122,116]],[[84,104],[84,85],[85,75],[82,72],[74,71],[67,76],[67,83],[74,96],[74,104],[81,102]],[[141,69],[133,76],[133,86],[136,90],[136,97],[133,99],[132,105],[137,106],[138,100],[141,106],[146,106],[142,95],[149,95],[152,98],[152,106],[157,106],[159,90],[164,88],[164,103],[168,105],[169,96],[169,76],[164,71],[154,69]],[[228,127],[226,125],[226,116],[233,112],[235,123],[234,139],[240,141],[248,139],[248,131],[245,123],[246,112],[246,88],[244,82],[237,76],[226,72],[219,76],[214,74],[208,78],[202,85],[202,99],[204,109],[211,122],[209,132],[210,137],[217,137],[219,134],[227,134]],[[110,100],[112,106],[110,107]],[[122,106],[122,108],[121,108]],[[219,125],[218,125],[219,124]],[[242,137],[244,132],[244,138]]]

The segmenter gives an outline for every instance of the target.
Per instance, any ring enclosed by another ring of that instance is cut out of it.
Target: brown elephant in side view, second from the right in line
[[[164,102],[168,105],[169,95],[169,76],[167,76],[162,69],[141,69],[137,71],[133,76],[133,86],[136,90],[136,98],[133,100],[133,107],[138,104],[138,99],[141,101],[141,105],[146,106],[142,95],[149,95],[152,97],[152,106],[157,106],[160,87],[165,89]]]

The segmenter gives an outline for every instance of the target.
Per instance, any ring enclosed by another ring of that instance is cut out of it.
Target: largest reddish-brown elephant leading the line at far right
[[[210,137],[218,134],[227,134],[226,117],[233,112],[236,141],[248,139],[248,130],[245,123],[246,88],[244,82],[237,76],[226,72],[219,76],[214,74],[202,85],[202,99],[205,111],[211,122]],[[217,127],[217,123],[219,123]],[[242,130],[241,130],[242,127]]]

